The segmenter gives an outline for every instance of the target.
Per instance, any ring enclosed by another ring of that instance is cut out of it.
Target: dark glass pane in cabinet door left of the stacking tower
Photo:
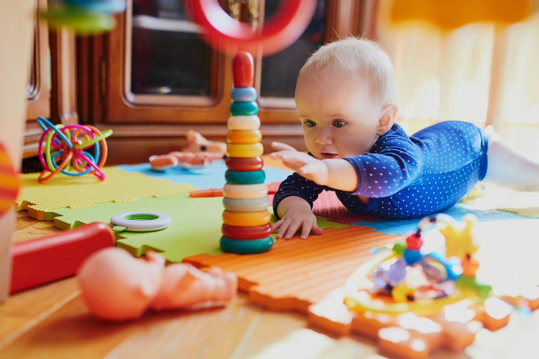
[[[212,51],[183,0],[135,1],[132,19],[132,94],[212,95]]]

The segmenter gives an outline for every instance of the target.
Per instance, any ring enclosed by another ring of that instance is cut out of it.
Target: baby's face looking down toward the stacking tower
[[[307,149],[318,159],[369,152],[379,135],[381,109],[359,76],[326,70],[320,79],[303,76],[296,85],[296,107]]]

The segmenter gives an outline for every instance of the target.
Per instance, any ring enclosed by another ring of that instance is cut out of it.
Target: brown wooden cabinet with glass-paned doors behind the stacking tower
[[[222,0],[239,6],[240,20],[260,24],[278,0]],[[258,5],[257,11],[251,6]],[[319,0],[306,33],[285,51],[255,57],[262,143],[279,140],[305,149],[293,94],[310,52],[335,37],[357,34],[359,0]],[[243,14],[243,15],[242,15]],[[107,164],[140,163],[185,146],[185,133],[225,140],[232,89],[231,58],[208,47],[185,14],[182,0],[128,1],[115,29],[79,38],[81,123],[112,128]]]

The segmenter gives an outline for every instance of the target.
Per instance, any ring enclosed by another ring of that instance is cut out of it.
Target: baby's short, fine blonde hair
[[[369,82],[372,100],[380,107],[396,101],[393,64],[382,46],[375,41],[347,37],[323,45],[307,59],[299,78],[320,76],[327,68],[364,76]]]

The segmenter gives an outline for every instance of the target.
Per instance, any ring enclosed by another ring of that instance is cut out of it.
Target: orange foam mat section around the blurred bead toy
[[[539,242],[533,231],[538,225],[539,220],[478,224],[481,268],[485,268],[482,280],[493,284],[497,293],[511,293],[526,301],[531,310],[539,307]],[[322,235],[306,241],[279,241],[265,254],[203,254],[184,261],[233,271],[238,274],[239,289],[255,304],[302,313],[310,326],[324,332],[369,337],[384,353],[399,357],[427,358],[439,349],[464,350],[481,328],[497,330],[506,326],[511,316],[521,315],[513,307],[517,304],[503,301],[502,295],[483,304],[459,301],[428,317],[348,309],[343,304],[344,285],[351,274],[372,258],[374,248],[403,238],[353,225],[325,229]],[[506,245],[508,238],[513,245]]]

